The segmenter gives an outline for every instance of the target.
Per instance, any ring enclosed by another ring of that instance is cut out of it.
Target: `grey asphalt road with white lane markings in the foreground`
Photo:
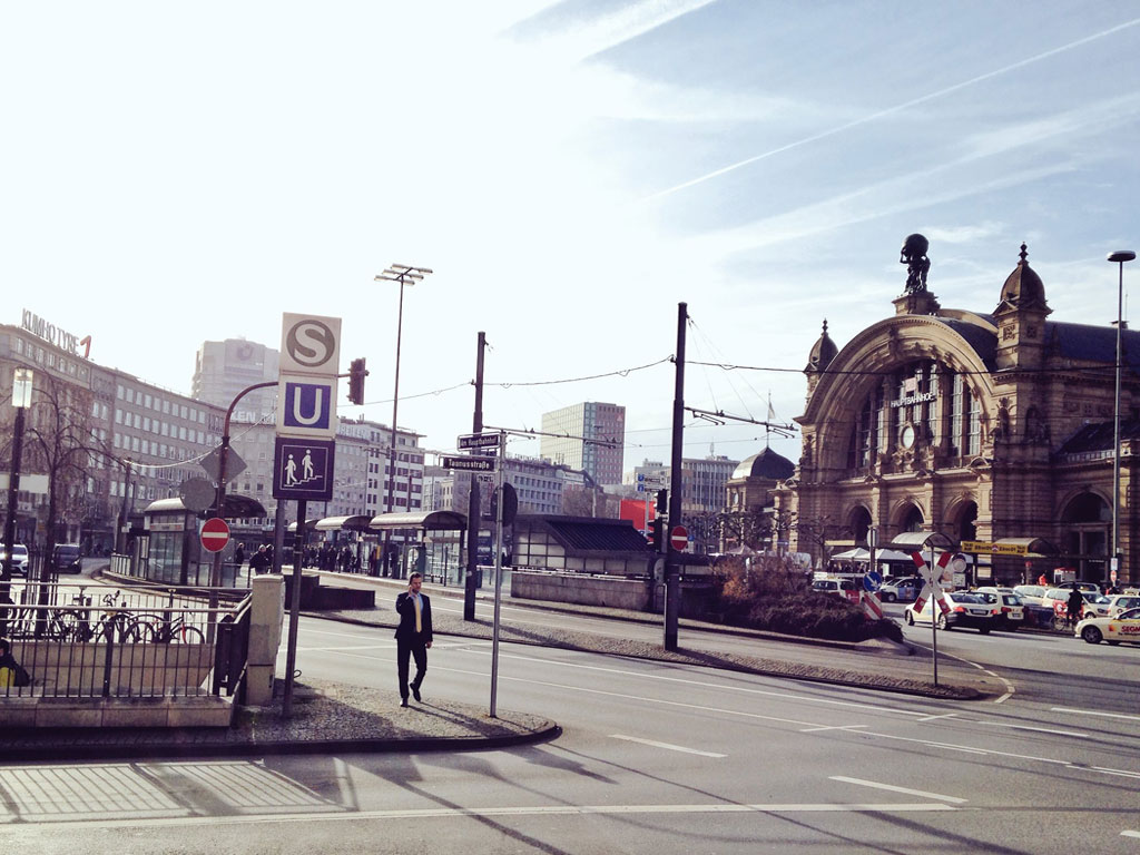
[[[391,630],[300,630],[304,676],[394,687]],[[1023,643],[947,635],[983,652]],[[431,715],[433,697],[489,701],[488,643],[438,637],[430,656],[426,706],[407,715]],[[498,703],[564,733],[510,751],[7,767],[19,822],[0,839],[28,853],[1140,853],[1140,715],[1051,709],[1020,685],[955,703],[504,645]]]

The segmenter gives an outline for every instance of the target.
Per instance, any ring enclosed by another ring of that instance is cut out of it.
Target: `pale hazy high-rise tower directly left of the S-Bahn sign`
[[[226,410],[243,389],[277,380],[279,358],[272,348],[245,339],[202,342],[194,360],[190,396]],[[258,389],[244,396],[234,412],[256,421],[272,414],[276,400],[272,386]]]

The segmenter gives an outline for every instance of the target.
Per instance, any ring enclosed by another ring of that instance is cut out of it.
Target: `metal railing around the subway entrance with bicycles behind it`
[[[0,670],[0,703],[19,698],[178,698],[218,694],[220,687],[234,694],[241,685],[249,621],[245,646],[229,638],[222,654],[207,640],[211,624],[234,624],[236,614],[249,614],[249,597],[211,610],[203,601],[209,592],[201,589],[32,583],[14,594],[11,605],[0,604],[0,626],[31,683],[17,685],[14,669]],[[218,668],[237,679],[219,684],[213,676]]]

